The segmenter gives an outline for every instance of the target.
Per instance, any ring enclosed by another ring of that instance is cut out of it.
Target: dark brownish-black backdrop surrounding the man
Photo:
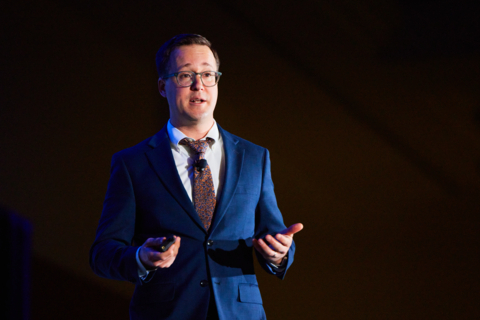
[[[478,1],[4,1],[0,203],[33,225],[32,319],[128,319],[90,271],[111,155],[168,120],[154,57],[220,54],[215,118],[267,147],[285,223],[269,319],[477,319]]]

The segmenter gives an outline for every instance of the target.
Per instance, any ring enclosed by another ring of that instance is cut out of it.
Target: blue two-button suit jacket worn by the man
[[[220,319],[265,319],[253,269],[252,238],[285,228],[273,191],[269,153],[219,130],[225,179],[208,233],[178,176],[166,126],[112,158],[90,265],[102,277],[136,284],[131,319],[205,319],[208,282]],[[175,262],[142,282],[135,259],[138,247],[149,237],[172,234],[182,238]],[[294,251],[292,244],[287,268]],[[275,274],[262,256],[257,258]],[[285,272],[277,276],[283,278]]]

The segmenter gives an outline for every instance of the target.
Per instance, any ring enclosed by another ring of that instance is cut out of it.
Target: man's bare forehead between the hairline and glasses
[[[216,70],[216,61],[209,47],[195,44],[176,48],[172,52],[170,66],[176,71],[202,67]]]

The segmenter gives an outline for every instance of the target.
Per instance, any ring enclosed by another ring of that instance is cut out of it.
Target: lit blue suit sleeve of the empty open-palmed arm
[[[260,198],[255,212],[255,238],[264,238],[267,234],[275,235],[276,233],[286,229],[283,222],[283,217],[278,209],[277,199],[273,190],[273,181],[270,169],[270,154],[265,149],[263,155],[263,177],[262,187],[260,191]],[[295,254],[295,242],[292,241],[292,246],[288,251],[288,259],[286,268],[282,272],[276,272],[263,258],[261,254],[255,250],[257,260],[262,268],[270,274],[276,275],[278,278],[283,279],[285,274],[293,262],[293,256]]]

